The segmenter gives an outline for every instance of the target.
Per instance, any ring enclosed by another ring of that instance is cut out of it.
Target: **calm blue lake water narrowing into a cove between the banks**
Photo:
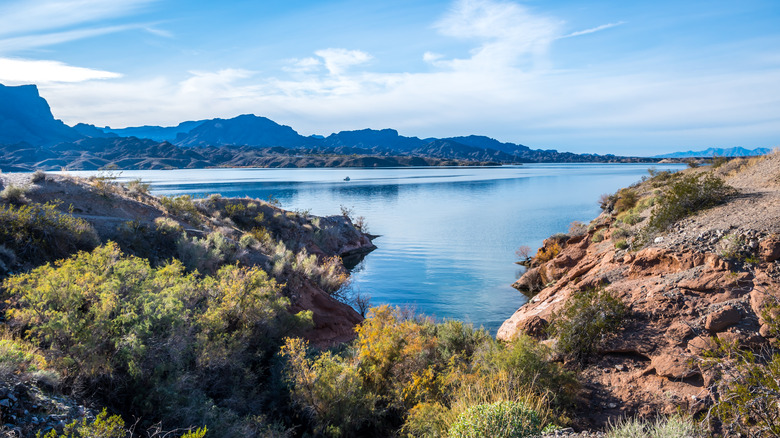
[[[141,178],[165,195],[272,195],[288,210],[315,215],[346,206],[381,235],[353,272],[354,287],[372,304],[412,306],[495,332],[526,301],[511,287],[522,273],[515,250],[536,250],[572,221],[587,223],[599,213],[599,195],[639,180],[649,167],[208,169],[125,171],[121,179]]]

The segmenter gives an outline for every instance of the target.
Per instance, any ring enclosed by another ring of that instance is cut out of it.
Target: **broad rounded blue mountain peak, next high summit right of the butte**
[[[303,147],[317,143],[321,143],[321,140],[304,137],[289,126],[253,114],[244,114],[232,119],[206,120],[174,142],[184,147],[223,145]]]

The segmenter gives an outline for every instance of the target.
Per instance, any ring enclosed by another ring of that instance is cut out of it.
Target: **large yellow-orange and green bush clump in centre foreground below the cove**
[[[293,399],[318,433],[446,436],[474,405],[522,402],[547,420],[546,401],[562,406],[574,393],[573,375],[528,337],[503,345],[468,324],[388,306],[372,308],[357,332],[339,355],[312,357],[298,340],[284,347]]]

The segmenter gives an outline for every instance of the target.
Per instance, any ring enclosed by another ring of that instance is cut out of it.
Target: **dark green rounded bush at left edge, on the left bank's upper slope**
[[[20,263],[54,261],[99,243],[89,222],[61,213],[56,204],[0,205],[0,245]]]

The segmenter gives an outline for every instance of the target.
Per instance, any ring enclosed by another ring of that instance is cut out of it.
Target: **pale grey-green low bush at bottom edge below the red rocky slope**
[[[696,438],[705,436],[690,418],[679,415],[646,421],[626,418],[610,424],[607,438]]]

